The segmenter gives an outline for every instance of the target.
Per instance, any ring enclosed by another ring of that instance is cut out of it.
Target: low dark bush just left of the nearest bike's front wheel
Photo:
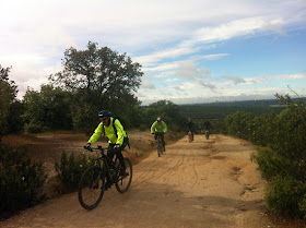
[[[94,157],[89,157],[85,154],[75,156],[73,153],[68,157],[66,152],[62,152],[60,163],[55,164],[57,178],[62,184],[62,192],[68,193],[74,191],[83,172],[95,163]]]

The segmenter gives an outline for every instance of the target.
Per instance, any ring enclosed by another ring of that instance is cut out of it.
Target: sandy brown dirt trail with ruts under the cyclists
[[[151,135],[150,135],[151,136]],[[225,135],[187,136],[134,166],[130,190],[113,187],[93,211],[78,193],[52,199],[0,227],[233,227],[271,226],[264,215],[264,182],[249,143]]]

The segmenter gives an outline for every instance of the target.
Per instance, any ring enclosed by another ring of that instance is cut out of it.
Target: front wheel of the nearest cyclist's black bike
[[[85,209],[95,208],[104,194],[105,175],[97,166],[90,167],[83,173],[79,184],[79,202]]]

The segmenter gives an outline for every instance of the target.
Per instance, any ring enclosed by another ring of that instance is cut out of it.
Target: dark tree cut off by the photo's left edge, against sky
[[[14,81],[9,81],[11,68],[2,68],[0,64],[0,136],[8,132],[11,105],[15,101],[17,86]]]

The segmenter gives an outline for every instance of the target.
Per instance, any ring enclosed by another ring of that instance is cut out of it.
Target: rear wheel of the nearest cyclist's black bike
[[[133,169],[132,169],[132,163],[128,157],[123,158],[125,164],[126,164],[126,173],[122,176],[120,173],[121,170],[121,165],[118,163],[118,168],[117,168],[117,180],[116,180],[116,189],[120,193],[125,193],[126,191],[129,190],[131,182],[132,182],[132,177],[133,177]]]

